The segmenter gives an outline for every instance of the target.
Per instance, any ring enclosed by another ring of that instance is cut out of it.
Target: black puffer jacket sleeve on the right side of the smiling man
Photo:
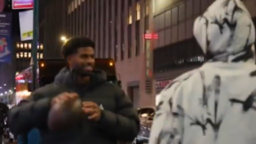
[[[100,128],[116,140],[132,141],[140,132],[140,119],[132,100],[118,88],[116,113],[102,110]]]

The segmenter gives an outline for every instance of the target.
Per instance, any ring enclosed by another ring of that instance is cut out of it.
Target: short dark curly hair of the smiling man
[[[81,47],[92,47],[94,49],[95,43],[88,37],[73,37],[63,44],[61,54],[66,59],[69,55],[76,53]]]

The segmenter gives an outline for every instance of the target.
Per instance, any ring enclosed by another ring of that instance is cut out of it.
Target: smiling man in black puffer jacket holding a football
[[[137,136],[137,111],[124,91],[108,83],[106,74],[94,68],[94,47],[87,37],[74,37],[63,45],[61,52],[69,67],[60,70],[53,84],[33,92],[27,104],[11,109],[8,118],[14,134],[37,128],[42,144],[117,144]],[[50,109],[58,101],[75,98],[83,102],[81,121],[72,127],[62,125],[61,131],[52,130]]]

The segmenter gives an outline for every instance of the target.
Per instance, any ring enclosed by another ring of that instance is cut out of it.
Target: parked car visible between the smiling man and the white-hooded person
[[[155,107],[138,108],[138,114],[140,116],[140,133],[135,140],[132,141],[132,144],[148,144],[155,112]]]

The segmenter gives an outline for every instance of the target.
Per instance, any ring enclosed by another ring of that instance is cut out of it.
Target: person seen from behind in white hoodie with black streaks
[[[194,24],[208,59],[161,92],[149,144],[255,144],[255,28],[240,0],[216,0]]]

